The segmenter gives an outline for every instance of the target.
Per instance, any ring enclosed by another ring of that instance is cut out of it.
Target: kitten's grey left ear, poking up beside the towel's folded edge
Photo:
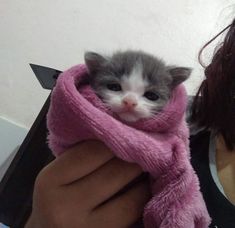
[[[90,73],[99,71],[108,63],[105,57],[95,52],[86,52],[84,59]]]

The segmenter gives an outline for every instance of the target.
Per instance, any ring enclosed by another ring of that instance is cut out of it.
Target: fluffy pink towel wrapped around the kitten
[[[190,164],[183,85],[174,90],[160,114],[127,124],[104,106],[90,86],[78,86],[86,75],[86,66],[77,65],[57,80],[47,116],[53,153],[58,156],[82,140],[101,140],[117,157],[139,164],[151,175],[145,227],[207,228],[210,217]]]

